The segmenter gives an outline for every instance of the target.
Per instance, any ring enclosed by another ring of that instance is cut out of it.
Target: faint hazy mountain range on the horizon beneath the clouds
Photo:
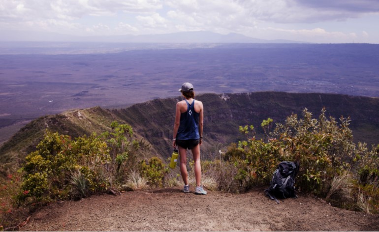
[[[187,31],[170,34],[73,36],[40,31],[1,31],[1,42],[110,42],[110,43],[307,43],[284,39],[265,40],[242,34]]]

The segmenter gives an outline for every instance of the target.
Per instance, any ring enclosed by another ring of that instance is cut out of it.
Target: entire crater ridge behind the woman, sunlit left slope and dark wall
[[[137,138],[151,144],[150,155],[171,155],[175,104],[181,98],[156,99],[126,109],[107,110],[99,107],[73,110],[59,115],[37,118],[23,127],[0,147],[2,174],[20,167],[25,156],[35,149],[45,129],[71,137],[101,133],[117,120],[130,124]],[[307,108],[318,117],[325,107],[328,116],[350,116],[354,142],[379,143],[379,98],[319,93],[254,92],[242,94],[202,94],[196,97],[204,104],[203,154],[214,152],[219,145],[242,139],[239,125],[259,125],[268,117],[283,122],[292,113]]]

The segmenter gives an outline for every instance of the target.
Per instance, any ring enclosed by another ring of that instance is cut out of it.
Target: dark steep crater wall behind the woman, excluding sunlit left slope
[[[158,99],[133,105],[112,113],[127,121],[146,138],[162,156],[171,152],[175,104],[181,98]],[[274,123],[307,108],[318,117],[323,107],[326,115],[351,118],[355,142],[378,144],[379,98],[340,94],[254,92],[238,94],[202,94],[196,97],[204,104],[203,152],[212,152],[217,144],[229,144],[243,139],[239,125],[253,124],[257,137],[263,133],[260,123],[268,117]]]

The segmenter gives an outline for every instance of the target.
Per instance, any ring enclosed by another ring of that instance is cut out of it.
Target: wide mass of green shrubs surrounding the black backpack
[[[340,124],[321,110],[318,119],[307,109],[303,117],[288,116],[269,132],[271,118],[263,120],[264,139],[256,140],[253,126],[240,127],[244,134],[252,134],[238,147],[229,146],[226,157],[238,168],[236,179],[241,190],[254,185],[268,184],[277,165],[284,160],[299,161],[297,186],[305,192],[325,197],[335,175],[349,168],[354,153],[349,118],[340,118]]]

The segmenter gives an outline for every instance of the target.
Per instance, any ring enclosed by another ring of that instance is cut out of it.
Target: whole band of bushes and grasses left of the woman
[[[93,133],[74,139],[46,130],[36,150],[26,156],[16,178],[10,174],[1,182],[1,223],[9,226],[18,215],[25,215],[26,209],[46,203],[77,200],[101,192],[116,194],[135,172],[161,187],[161,170],[167,173],[168,169],[158,157],[148,161],[150,166],[144,161],[149,145],[138,141],[127,124],[114,121],[110,128],[101,135]]]

